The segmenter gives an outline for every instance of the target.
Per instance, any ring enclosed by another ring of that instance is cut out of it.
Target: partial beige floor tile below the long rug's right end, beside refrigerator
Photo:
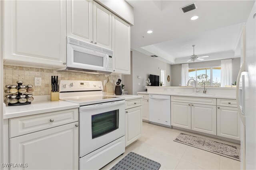
[[[240,161],[220,156],[220,170],[239,170]]]

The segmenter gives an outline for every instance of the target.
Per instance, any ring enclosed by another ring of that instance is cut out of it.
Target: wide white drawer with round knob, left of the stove
[[[78,109],[10,119],[10,138],[78,121]]]

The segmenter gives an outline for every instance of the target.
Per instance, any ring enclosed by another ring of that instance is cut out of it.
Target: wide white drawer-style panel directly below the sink
[[[194,103],[194,104],[216,105],[215,98],[171,96],[171,101],[172,102],[183,102],[183,103]]]

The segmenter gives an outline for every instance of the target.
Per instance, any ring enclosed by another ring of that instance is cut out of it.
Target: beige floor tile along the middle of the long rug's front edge
[[[190,146],[183,154],[182,160],[197,164],[204,169],[216,170],[220,168],[220,155]]]

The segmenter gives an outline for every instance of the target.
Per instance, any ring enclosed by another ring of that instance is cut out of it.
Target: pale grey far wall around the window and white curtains
[[[220,60],[189,63],[188,66],[189,66],[189,68],[220,66]],[[234,58],[232,60],[232,83],[234,83],[236,81],[239,70],[240,70],[240,58]],[[171,76],[172,86],[180,86],[180,84],[181,84],[181,64],[172,65],[171,72],[172,72],[172,76]]]

